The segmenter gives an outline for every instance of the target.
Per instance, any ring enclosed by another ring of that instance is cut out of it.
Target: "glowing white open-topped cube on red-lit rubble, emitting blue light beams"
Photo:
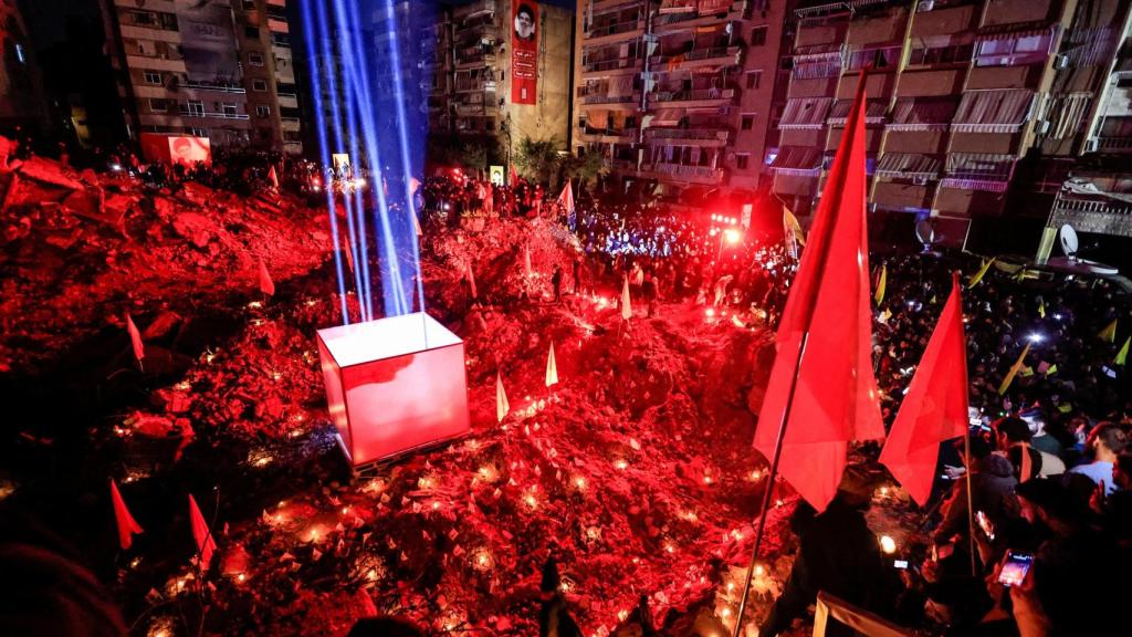
[[[424,313],[318,330],[331,418],[351,465],[470,428],[464,341]]]

